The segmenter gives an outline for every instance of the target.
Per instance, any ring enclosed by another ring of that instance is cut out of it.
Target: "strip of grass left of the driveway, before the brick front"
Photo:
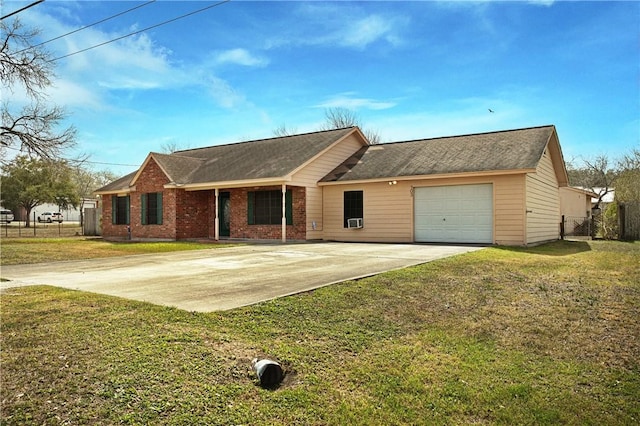
[[[216,247],[189,241],[111,242],[96,238],[9,238],[0,241],[0,265],[94,259],[130,254],[165,253]],[[228,244],[224,245],[228,247]]]

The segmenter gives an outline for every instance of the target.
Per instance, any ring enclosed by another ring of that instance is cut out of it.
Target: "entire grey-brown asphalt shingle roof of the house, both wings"
[[[280,178],[353,131],[353,127],[153,153],[176,184]],[[554,126],[363,146],[322,182],[535,169]],[[137,172],[96,192],[127,190]]]

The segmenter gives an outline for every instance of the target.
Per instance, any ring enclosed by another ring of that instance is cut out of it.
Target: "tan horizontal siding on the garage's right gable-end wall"
[[[527,244],[557,240],[560,236],[558,180],[548,151],[535,173],[527,174]]]

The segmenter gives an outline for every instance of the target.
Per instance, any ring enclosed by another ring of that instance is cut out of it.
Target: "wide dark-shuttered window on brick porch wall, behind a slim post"
[[[282,223],[282,191],[252,191],[248,193],[249,225],[280,225]],[[291,190],[285,195],[287,225],[293,225]]]

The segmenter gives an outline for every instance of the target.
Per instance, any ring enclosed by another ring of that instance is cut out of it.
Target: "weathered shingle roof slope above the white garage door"
[[[534,169],[553,126],[363,147],[322,182]]]

